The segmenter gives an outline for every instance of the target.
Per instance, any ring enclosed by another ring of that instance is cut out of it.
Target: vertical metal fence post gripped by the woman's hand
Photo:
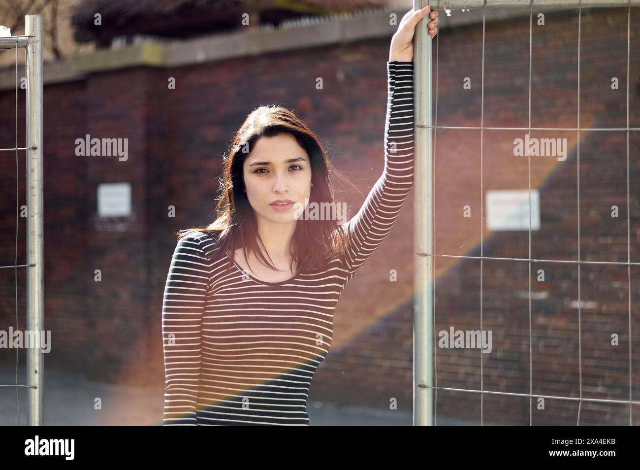
[[[419,10],[424,0],[414,0]],[[430,18],[420,20],[413,36],[413,425],[433,425],[433,128],[431,127]],[[429,254],[429,255],[426,255]]]

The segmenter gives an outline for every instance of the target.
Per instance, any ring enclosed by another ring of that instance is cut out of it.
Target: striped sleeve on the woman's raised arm
[[[388,61],[387,83],[384,170],[360,211],[342,225],[348,280],[387,238],[413,185],[413,61]]]

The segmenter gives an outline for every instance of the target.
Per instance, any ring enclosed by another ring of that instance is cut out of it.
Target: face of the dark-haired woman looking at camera
[[[311,194],[311,164],[307,152],[291,134],[260,137],[243,163],[246,197],[256,218],[289,223],[300,217]],[[277,206],[278,200],[289,204]]]

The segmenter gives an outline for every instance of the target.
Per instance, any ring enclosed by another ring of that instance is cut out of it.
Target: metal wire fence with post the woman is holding
[[[515,395],[515,396],[528,396],[529,397],[529,425],[532,425],[532,401],[534,396],[536,398],[554,398],[559,400],[577,400],[580,402],[577,416],[577,425],[580,424],[580,408],[582,401],[601,401],[610,403],[628,403],[629,411],[629,424],[632,424],[632,404],[638,404],[640,401],[632,400],[632,368],[631,368],[631,265],[640,264],[632,263],[630,259],[630,234],[629,234],[629,133],[631,131],[640,131],[640,128],[629,127],[629,37],[630,37],[630,24],[631,24],[631,7],[640,6],[639,0],[627,0],[627,1],[607,1],[607,0],[580,0],[580,1],[561,1],[561,0],[414,0],[413,6],[415,10],[419,10],[424,6],[429,5],[434,10],[458,10],[458,9],[483,9],[483,45],[482,45],[482,98],[481,98],[481,126],[480,127],[452,127],[452,126],[437,126],[437,95],[438,95],[438,55],[436,53],[436,86],[435,86],[435,124],[433,125],[433,88],[432,88],[432,74],[433,74],[433,38],[428,35],[428,22],[429,18],[426,17],[420,21],[415,31],[414,38],[414,68],[415,68],[415,83],[414,83],[414,101],[415,101],[415,204],[414,204],[414,237],[413,243],[415,248],[414,254],[414,368],[413,368],[413,423],[414,425],[433,425],[434,423],[434,391],[437,394],[438,389],[458,391],[463,393],[479,393],[481,394],[481,407],[480,407],[480,421],[483,424],[483,396],[484,394],[502,394],[502,395]],[[486,29],[486,22],[484,13],[487,8],[506,8],[506,7],[529,7],[529,126],[528,127],[484,127],[484,31]],[[580,127],[580,20],[582,19],[582,8],[593,7],[627,7],[628,8],[628,23],[627,23],[627,127],[626,128],[584,128]],[[543,8],[577,8],[579,10],[579,22],[578,22],[578,116],[577,127],[575,128],[553,128],[553,127],[531,127],[531,44],[532,44],[532,22],[534,7]],[[444,33],[446,34],[446,33]],[[436,45],[438,38],[442,33],[438,32],[436,35]],[[481,236],[481,255],[479,257],[462,256],[462,255],[448,255],[448,254],[435,254],[434,252],[434,154],[435,154],[435,134],[434,129],[470,129],[472,131],[480,131],[480,192],[481,192],[481,216],[480,216],[480,236]],[[484,257],[483,256],[483,220],[484,220],[484,207],[483,207],[483,184],[482,184],[482,148],[483,148],[483,134],[484,129],[492,130],[522,130],[529,131],[575,131],[577,133],[577,165],[580,168],[580,131],[627,131],[627,263],[609,263],[609,262],[597,262],[597,261],[582,261],[580,259],[580,172],[578,171],[577,188],[578,188],[578,259],[577,261],[571,260],[541,260],[531,259],[531,155],[529,159],[529,257],[524,259],[516,258],[499,258],[499,257]],[[480,366],[481,366],[481,386],[479,390],[472,389],[458,389],[451,387],[438,387],[437,375],[434,373],[436,344],[434,341],[435,335],[435,296],[434,296],[434,282],[435,282],[435,257],[456,257],[456,258],[469,258],[479,259],[480,261],[480,329],[483,329],[483,307],[482,307],[482,266],[484,259],[499,259],[510,261],[524,261],[529,264],[529,394],[521,393],[507,393],[504,391],[490,391],[484,390],[483,377],[483,352],[480,352]],[[568,396],[545,396],[534,395],[533,378],[532,378],[532,350],[531,350],[531,263],[548,261],[548,262],[561,262],[561,263],[575,263],[578,269],[578,324],[579,324],[579,364],[580,364],[580,396],[568,397]],[[598,263],[598,264],[626,264],[628,273],[628,291],[629,291],[629,399],[628,400],[604,400],[587,398],[582,395],[582,347],[580,343],[580,264],[584,263]],[[437,398],[437,395],[436,395]]]

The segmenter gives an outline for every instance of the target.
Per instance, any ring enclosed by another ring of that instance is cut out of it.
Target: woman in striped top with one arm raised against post
[[[280,107],[246,118],[224,158],[218,217],[181,233],[173,254],[163,425],[308,425],[340,294],[413,184],[413,32],[429,10],[406,13],[392,38],[385,170],[349,222],[313,210],[335,207],[328,177],[340,175],[316,135]]]

